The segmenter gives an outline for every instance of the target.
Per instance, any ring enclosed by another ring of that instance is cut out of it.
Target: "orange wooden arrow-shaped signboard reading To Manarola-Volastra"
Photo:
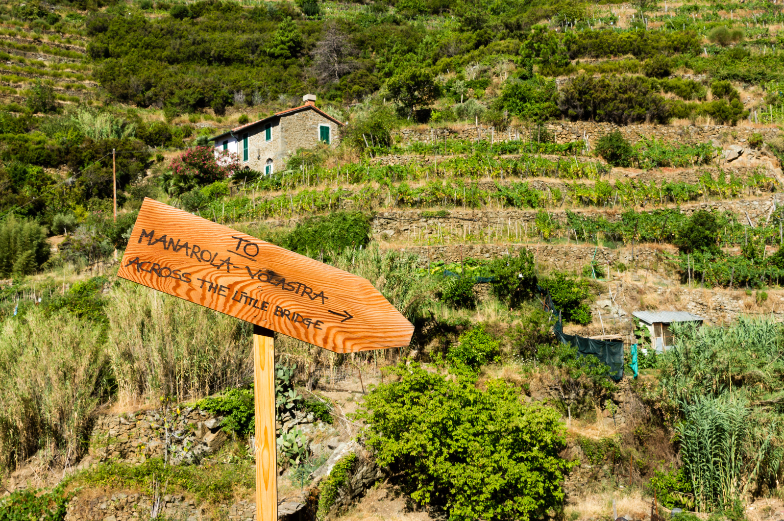
[[[405,347],[414,331],[367,280],[154,199],[118,275],[334,352]]]

